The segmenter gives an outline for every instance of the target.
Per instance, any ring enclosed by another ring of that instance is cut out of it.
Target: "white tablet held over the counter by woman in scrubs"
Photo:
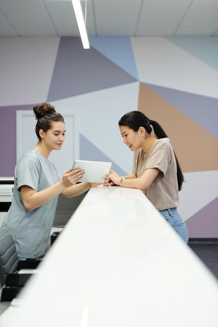
[[[104,183],[112,163],[101,161],[75,160],[73,169],[81,168],[85,174],[80,182]]]

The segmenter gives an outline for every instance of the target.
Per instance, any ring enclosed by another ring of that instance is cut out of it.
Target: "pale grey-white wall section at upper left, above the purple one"
[[[0,38],[0,106],[46,101],[59,40]]]

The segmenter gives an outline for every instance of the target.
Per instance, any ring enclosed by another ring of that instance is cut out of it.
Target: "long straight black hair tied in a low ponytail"
[[[126,113],[118,123],[119,126],[128,126],[130,129],[133,129],[135,132],[139,130],[139,128],[142,126],[146,130],[148,134],[151,134],[152,128],[150,125],[153,126],[155,135],[158,139],[162,139],[164,137],[168,137],[167,134],[164,132],[162,127],[154,120],[148,119],[147,116],[145,116],[140,111],[131,111]],[[175,152],[174,152],[175,154]],[[182,183],[184,181],[184,176],[181,171],[181,167],[179,165],[178,159],[176,157],[176,168],[177,168],[177,181],[178,181],[178,189],[179,191],[182,189]]]

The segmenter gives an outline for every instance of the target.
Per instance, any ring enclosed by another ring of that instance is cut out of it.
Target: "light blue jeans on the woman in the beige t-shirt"
[[[159,210],[159,213],[165,218],[165,220],[172,226],[177,234],[187,244],[189,240],[189,234],[186,224],[177,212],[177,208]]]

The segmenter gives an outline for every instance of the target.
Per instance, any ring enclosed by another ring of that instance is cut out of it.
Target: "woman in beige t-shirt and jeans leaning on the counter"
[[[188,230],[177,212],[178,192],[184,178],[169,138],[156,121],[148,119],[139,111],[126,113],[118,125],[124,144],[131,151],[139,148],[140,151],[134,163],[133,174],[122,178],[110,170],[105,185],[141,189],[187,243]],[[153,126],[154,136],[150,125]]]

